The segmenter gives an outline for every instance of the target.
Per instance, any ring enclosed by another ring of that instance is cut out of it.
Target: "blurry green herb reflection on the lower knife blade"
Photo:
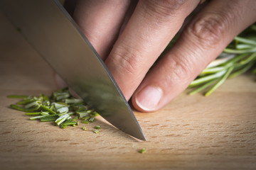
[[[128,103],[124,102],[122,96],[117,95],[119,92],[112,88],[112,84],[107,86],[107,82],[102,80],[79,80],[77,84],[82,86],[73,86],[73,89],[80,94],[81,98],[90,106],[95,106],[97,112],[115,127],[140,140],[145,140],[141,130],[132,128],[138,126],[137,120]]]

